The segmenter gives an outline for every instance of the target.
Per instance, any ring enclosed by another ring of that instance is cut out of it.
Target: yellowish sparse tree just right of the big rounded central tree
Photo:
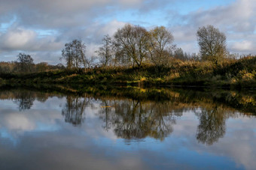
[[[151,61],[157,66],[168,64],[171,57],[174,37],[164,26],[155,27],[150,32]]]

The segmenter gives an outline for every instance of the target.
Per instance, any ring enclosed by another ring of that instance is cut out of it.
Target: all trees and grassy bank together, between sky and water
[[[62,49],[62,64],[33,64],[30,55],[0,63],[2,85],[20,83],[102,85],[200,85],[228,88],[256,88],[256,57],[229,55],[226,37],[208,25],[197,31],[200,55],[187,55],[174,44],[165,27],[150,31],[139,25],[124,25],[105,35],[96,53],[99,63],[88,58],[86,45],[72,40]],[[92,67],[95,64],[95,67]]]

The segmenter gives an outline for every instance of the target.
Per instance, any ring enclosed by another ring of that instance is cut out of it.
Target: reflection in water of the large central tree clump
[[[113,127],[114,133],[123,139],[151,136],[163,140],[172,133],[172,124],[175,124],[169,103],[104,100],[102,106],[99,117],[105,122],[103,127],[105,130]]]

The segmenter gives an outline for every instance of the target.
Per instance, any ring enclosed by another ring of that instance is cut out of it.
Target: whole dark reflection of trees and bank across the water
[[[212,145],[224,137],[228,118],[251,116],[256,106],[255,95],[234,91],[181,88],[87,88],[86,91],[65,95],[66,104],[62,108],[65,121],[75,126],[83,124],[86,108],[90,108],[96,110],[103,129],[112,130],[123,139],[163,140],[172,133],[177,119],[190,111],[199,119],[198,142]],[[0,91],[0,98],[14,100],[20,111],[30,109],[35,100],[44,102],[52,96],[56,94],[18,89]]]

